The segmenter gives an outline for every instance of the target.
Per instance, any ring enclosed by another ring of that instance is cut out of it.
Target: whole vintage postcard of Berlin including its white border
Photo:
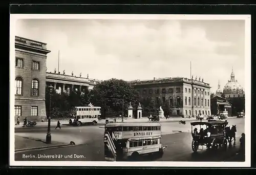
[[[10,165],[250,166],[250,25],[11,14]]]

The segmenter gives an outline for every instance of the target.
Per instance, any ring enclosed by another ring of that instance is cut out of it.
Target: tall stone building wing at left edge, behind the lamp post
[[[15,121],[46,119],[46,45],[15,37]]]

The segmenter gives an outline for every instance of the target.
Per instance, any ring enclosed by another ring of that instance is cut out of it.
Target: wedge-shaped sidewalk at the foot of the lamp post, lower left
[[[51,144],[47,144],[45,141],[46,139],[41,140],[41,139],[34,139],[29,137],[15,136],[15,151],[69,145],[67,143],[56,142],[56,141],[52,141]]]

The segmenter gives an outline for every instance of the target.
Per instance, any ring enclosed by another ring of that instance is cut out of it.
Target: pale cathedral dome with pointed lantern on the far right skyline
[[[230,80],[226,83],[223,89],[224,94],[230,94],[230,93],[244,93],[243,87],[239,84],[238,80],[234,78],[234,73],[232,70],[232,73],[230,75]]]

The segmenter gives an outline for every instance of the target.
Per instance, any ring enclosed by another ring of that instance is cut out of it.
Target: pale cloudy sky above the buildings
[[[106,80],[201,77],[216,92],[245,84],[244,20],[19,19],[15,35],[47,43],[47,72]]]

